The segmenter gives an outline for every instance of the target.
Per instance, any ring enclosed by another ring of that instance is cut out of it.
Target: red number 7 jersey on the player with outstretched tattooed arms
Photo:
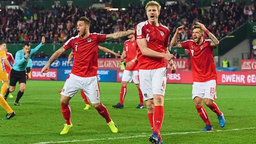
[[[106,34],[98,33],[91,33],[88,38],[81,38],[79,35],[69,38],[63,48],[72,48],[74,54],[71,73],[80,77],[97,76],[98,46],[105,40]]]

